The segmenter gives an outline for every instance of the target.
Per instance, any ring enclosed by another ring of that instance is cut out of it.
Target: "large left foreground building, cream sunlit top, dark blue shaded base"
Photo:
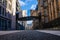
[[[16,28],[16,0],[0,0],[0,30]]]

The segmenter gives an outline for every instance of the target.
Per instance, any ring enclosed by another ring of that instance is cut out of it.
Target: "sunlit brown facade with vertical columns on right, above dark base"
[[[38,0],[38,13],[41,13],[41,24],[49,23],[60,17],[60,0]],[[58,20],[57,20],[58,21]],[[53,22],[50,25],[56,25]]]

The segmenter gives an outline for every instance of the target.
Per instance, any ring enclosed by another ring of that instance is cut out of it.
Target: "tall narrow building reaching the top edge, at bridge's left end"
[[[16,1],[16,29],[17,30],[24,30],[25,27],[23,26],[23,21],[19,21],[18,18],[23,17],[22,10],[20,9],[20,3]]]

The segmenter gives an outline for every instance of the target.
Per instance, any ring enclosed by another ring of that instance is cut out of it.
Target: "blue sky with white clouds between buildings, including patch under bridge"
[[[30,10],[35,10],[38,4],[37,0],[19,0],[21,10],[27,10],[27,16],[30,16]],[[29,21],[28,23],[31,23]]]

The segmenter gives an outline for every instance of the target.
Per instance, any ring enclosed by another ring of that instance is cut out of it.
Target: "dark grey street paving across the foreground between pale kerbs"
[[[60,40],[60,36],[34,30],[0,35],[0,40]]]

